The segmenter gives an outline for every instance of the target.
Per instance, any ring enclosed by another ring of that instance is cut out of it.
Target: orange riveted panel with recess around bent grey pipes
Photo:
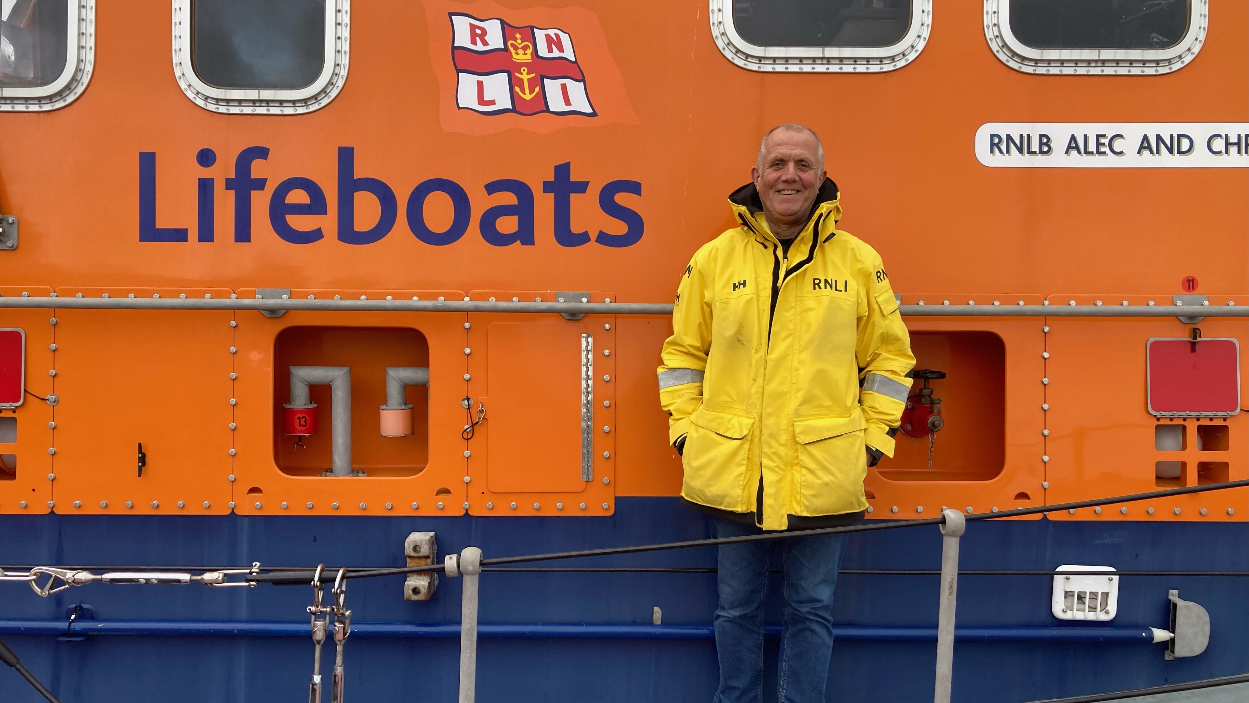
[[[255,290],[239,291],[255,297]],[[292,290],[292,298],[463,300],[460,291]],[[239,312],[234,457],[241,514],[438,514],[465,508],[465,320],[456,312]],[[311,385],[316,432],[287,435],[291,366],[350,368],[351,468],[331,468],[331,387]],[[428,386],[406,386],[411,408],[387,403],[386,368],[428,368]],[[402,408],[402,410],[400,410]],[[396,415],[406,416],[400,422]],[[387,415],[392,413],[392,415]],[[381,423],[385,421],[387,426]],[[395,422],[403,427],[396,432]],[[410,433],[408,432],[410,428]],[[311,507],[309,507],[311,504]],[[412,506],[416,504],[413,508]],[[440,507],[441,506],[441,507]]]

